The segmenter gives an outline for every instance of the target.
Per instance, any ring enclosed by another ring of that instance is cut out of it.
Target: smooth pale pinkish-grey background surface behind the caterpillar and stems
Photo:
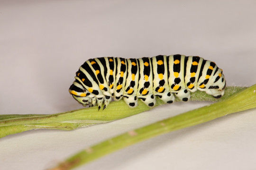
[[[0,0],[0,114],[82,108],[68,93],[90,58],[198,55],[228,85],[256,83],[256,2]],[[43,170],[92,144],[210,102],[179,102],[75,131],[0,139],[1,170]],[[256,169],[256,110],[155,137],[78,170]]]

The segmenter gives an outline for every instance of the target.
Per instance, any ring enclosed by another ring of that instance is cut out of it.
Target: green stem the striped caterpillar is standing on
[[[220,100],[226,99],[230,95],[238,93],[245,88],[246,87],[227,87],[225,95]],[[197,91],[192,93],[191,100],[215,102],[218,99],[204,92]],[[177,101],[179,100],[177,99]],[[110,105],[105,110],[100,111],[98,111],[98,107],[91,107],[46,115],[0,115],[0,137],[40,128],[73,130],[78,127],[87,127],[126,118],[151,109],[141,101],[138,101],[138,103],[139,105],[133,109],[129,108],[128,105],[121,100],[119,102],[110,102]],[[162,104],[165,103],[159,99],[156,100],[156,106]]]

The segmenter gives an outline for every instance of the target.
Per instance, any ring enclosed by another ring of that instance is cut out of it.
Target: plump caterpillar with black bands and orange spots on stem
[[[222,69],[214,62],[180,54],[89,59],[74,78],[69,93],[83,106],[97,104],[99,110],[102,104],[104,110],[111,98],[123,98],[130,107],[136,107],[138,99],[152,107],[156,96],[167,103],[174,102],[175,96],[186,102],[196,90],[220,98],[226,87]]]

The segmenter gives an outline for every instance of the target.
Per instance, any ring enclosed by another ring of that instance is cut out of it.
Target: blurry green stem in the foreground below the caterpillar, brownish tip
[[[69,170],[84,163],[93,161],[108,153],[112,153],[131,144],[136,144],[148,138],[168,133],[184,127],[191,127],[230,113],[256,108],[256,85],[240,93],[216,102],[209,106],[191,110],[169,119],[158,121],[146,127],[129,131],[110,138],[100,144],[93,145],[80,153],[73,155],[51,170]]]

